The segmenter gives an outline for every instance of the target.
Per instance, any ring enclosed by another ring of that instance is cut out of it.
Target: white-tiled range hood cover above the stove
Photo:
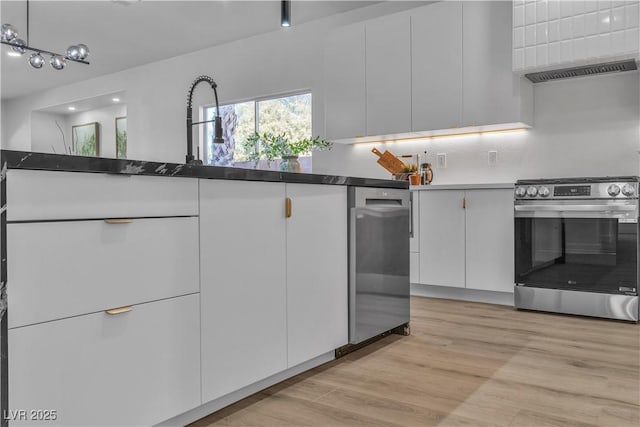
[[[512,11],[516,72],[640,59],[637,0],[515,0]]]

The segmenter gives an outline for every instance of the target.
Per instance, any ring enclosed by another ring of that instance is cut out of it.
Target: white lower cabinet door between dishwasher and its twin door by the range
[[[420,283],[465,286],[464,191],[420,194]]]

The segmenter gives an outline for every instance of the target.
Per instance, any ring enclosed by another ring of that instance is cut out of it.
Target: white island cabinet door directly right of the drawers
[[[200,180],[203,402],[287,367],[285,184]]]

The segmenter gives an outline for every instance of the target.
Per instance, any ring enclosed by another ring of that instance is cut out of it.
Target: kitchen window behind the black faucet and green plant
[[[203,111],[204,120],[213,120],[215,106]],[[204,132],[204,163],[212,166],[277,169],[280,160],[271,165],[260,160],[256,165],[244,154],[242,144],[254,132],[286,133],[291,139],[311,138],[311,92],[226,104],[220,106],[224,144],[213,143],[213,123]],[[299,158],[303,172],[311,172],[311,153]]]

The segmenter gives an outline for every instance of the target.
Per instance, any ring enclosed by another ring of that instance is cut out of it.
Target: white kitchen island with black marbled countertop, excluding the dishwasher
[[[185,424],[332,360],[350,185],[408,188],[2,151],[5,418]]]

